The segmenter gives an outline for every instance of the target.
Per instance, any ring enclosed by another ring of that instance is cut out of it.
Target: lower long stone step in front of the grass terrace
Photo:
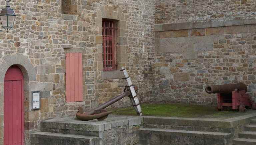
[[[164,140],[163,140],[164,139]],[[230,133],[187,131],[174,129],[140,128],[137,130],[138,144],[200,144],[228,145]]]

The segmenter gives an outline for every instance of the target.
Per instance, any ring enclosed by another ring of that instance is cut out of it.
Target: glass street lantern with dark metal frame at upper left
[[[5,1],[7,2],[7,4],[6,4],[6,7],[2,9],[0,13],[0,20],[1,20],[2,27],[8,33],[14,25],[16,15],[14,13],[14,10],[10,8],[9,2],[11,0],[5,0]]]

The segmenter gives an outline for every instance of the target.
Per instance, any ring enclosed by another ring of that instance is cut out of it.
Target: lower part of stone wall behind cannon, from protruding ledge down
[[[255,97],[255,28],[255,18],[162,25],[156,32],[156,98],[216,104],[206,85],[238,82]]]

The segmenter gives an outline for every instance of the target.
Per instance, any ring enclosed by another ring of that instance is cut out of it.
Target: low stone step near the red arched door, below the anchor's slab
[[[31,145],[99,145],[95,136],[61,134],[51,132],[34,132],[30,135]]]

